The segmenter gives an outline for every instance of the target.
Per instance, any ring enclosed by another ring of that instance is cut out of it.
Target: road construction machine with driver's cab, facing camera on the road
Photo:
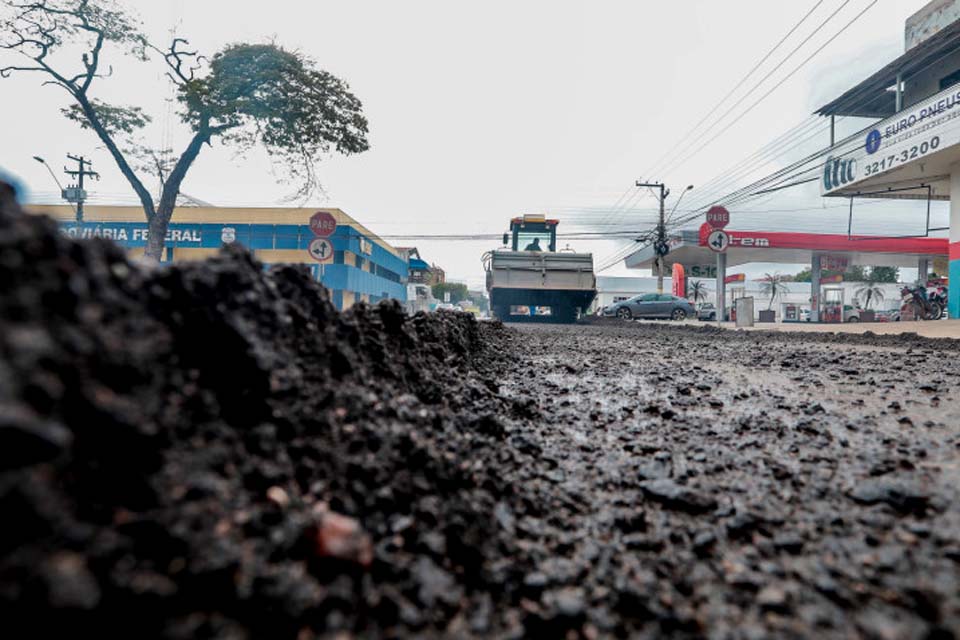
[[[575,322],[597,295],[593,254],[557,251],[559,220],[510,221],[503,247],[483,256],[490,309],[503,322]]]

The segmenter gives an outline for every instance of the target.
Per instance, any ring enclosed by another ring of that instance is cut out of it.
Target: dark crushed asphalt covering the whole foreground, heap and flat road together
[[[339,313],[0,185],[28,637],[955,638],[960,343]],[[6,637],[16,637],[16,634]]]

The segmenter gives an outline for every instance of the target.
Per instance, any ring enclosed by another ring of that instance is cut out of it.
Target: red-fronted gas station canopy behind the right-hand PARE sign
[[[811,264],[814,254],[837,256],[851,265],[874,267],[913,267],[920,260],[947,256],[946,238],[881,238],[841,234],[790,233],[783,231],[731,231],[727,248],[727,266],[769,262]],[[670,238],[670,253],[665,262],[679,263],[688,269],[710,265],[716,253],[707,246],[706,225],[699,231],[684,230]],[[645,247],[624,260],[627,268],[655,266],[653,247]]]

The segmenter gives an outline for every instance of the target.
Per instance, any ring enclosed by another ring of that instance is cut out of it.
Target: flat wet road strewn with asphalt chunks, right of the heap
[[[541,451],[514,500],[537,516],[502,519],[527,632],[960,632],[956,344],[512,331],[501,393],[536,398]]]

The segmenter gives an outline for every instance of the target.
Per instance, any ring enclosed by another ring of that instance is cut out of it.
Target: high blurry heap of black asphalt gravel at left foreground
[[[0,184],[4,635],[485,633],[509,341],[236,247],[133,264]]]

